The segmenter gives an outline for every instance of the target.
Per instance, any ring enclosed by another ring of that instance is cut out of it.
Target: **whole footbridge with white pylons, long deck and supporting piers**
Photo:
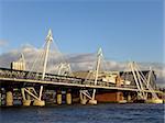
[[[102,57],[101,48],[97,54],[96,68],[92,71],[94,78],[79,78],[72,74],[69,64],[59,63],[58,71],[56,74],[46,72],[47,60],[50,55],[50,46],[53,42],[52,31],[48,31],[46,36],[46,44],[41,55],[43,60],[41,71],[34,70],[34,65],[30,70],[25,69],[25,58],[22,55],[21,60],[12,63],[11,68],[0,68],[0,87],[1,87],[1,102],[3,100],[6,105],[13,105],[14,88],[20,90],[21,102],[23,105],[45,105],[44,93],[46,90],[55,90],[55,99],[57,104],[63,102],[63,92],[65,90],[66,103],[72,104],[74,97],[78,99],[81,104],[90,103],[97,104],[101,101],[103,94],[107,94],[108,100],[124,102],[134,100],[144,100],[155,103],[163,103],[160,99],[164,96],[162,91],[155,90],[151,86],[152,69],[148,70],[147,78],[140,70],[135,63],[130,63],[129,68],[132,74],[135,85],[123,85],[127,80],[121,80],[117,75],[113,82],[106,81],[99,78],[100,64]],[[63,58],[64,59],[64,58]],[[35,67],[37,69],[38,67]],[[40,69],[40,68],[38,68]],[[101,90],[101,92],[100,92]],[[3,94],[4,93],[4,94]],[[45,94],[46,96],[46,94]]]

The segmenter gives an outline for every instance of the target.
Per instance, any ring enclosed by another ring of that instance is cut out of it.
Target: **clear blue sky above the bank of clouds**
[[[0,54],[41,47],[50,27],[65,54],[163,63],[163,0],[0,0]]]

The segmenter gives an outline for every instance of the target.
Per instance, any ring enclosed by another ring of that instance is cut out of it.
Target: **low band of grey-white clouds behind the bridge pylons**
[[[37,69],[42,71],[43,68],[43,49],[36,48],[30,44],[22,46],[19,49],[10,51],[0,55],[0,67],[10,67],[11,62],[15,62],[20,58],[21,53],[24,54],[28,69],[32,69],[33,63],[35,60],[35,66],[32,70]],[[50,53],[51,57],[47,65],[47,71],[55,72],[55,67],[59,63],[69,63],[72,70],[94,70],[96,67],[97,55],[96,54],[74,54],[74,55],[63,55],[62,53],[54,51]],[[128,70],[128,63],[118,63],[114,60],[102,60],[102,70]],[[165,87],[165,65],[158,63],[139,63],[141,69],[148,70],[150,66],[155,71],[157,76],[157,83]]]

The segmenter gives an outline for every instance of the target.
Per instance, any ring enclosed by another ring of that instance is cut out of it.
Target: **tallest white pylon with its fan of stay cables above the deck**
[[[42,48],[36,51],[34,62],[30,64],[32,67],[29,70],[29,77],[32,75],[31,71],[42,72],[42,79],[46,72],[63,76],[72,75],[70,65],[54,42],[51,30]]]

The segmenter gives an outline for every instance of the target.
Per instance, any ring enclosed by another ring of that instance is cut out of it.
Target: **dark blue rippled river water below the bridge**
[[[164,104],[0,108],[0,123],[164,123]]]

